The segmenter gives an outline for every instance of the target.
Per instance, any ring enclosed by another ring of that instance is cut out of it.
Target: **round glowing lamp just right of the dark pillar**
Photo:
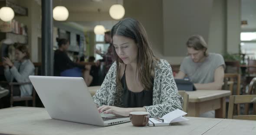
[[[69,17],[69,10],[65,6],[56,6],[53,9],[53,18],[56,21],[66,21]]]

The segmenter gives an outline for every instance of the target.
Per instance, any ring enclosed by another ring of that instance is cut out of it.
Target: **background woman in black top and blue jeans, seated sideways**
[[[82,70],[87,69],[87,65],[77,64],[70,60],[67,51],[69,48],[69,41],[67,39],[56,39],[58,42],[59,49],[54,52],[54,76],[61,76],[63,71],[72,69],[73,72],[78,72],[79,76],[82,77]],[[77,76],[77,77],[79,77]],[[87,86],[92,82],[92,76],[86,76],[86,72],[83,74],[83,78],[85,79],[85,83]]]

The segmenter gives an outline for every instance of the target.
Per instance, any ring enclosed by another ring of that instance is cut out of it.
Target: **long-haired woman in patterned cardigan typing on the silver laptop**
[[[129,116],[144,111],[162,117],[182,109],[171,66],[154,56],[141,23],[125,18],[111,33],[115,62],[93,96],[99,113]]]

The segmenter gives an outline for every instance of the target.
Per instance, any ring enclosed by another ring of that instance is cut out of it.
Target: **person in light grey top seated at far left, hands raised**
[[[30,61],[30,53],[26,45],[18,45],[15,48],[14,63],[9,58],[3,58],[4,76],[8,82],[26,83],[30,82],[29,76],[35,74],[35,66]],[[30,96],[32,84],[13,86],[13,96]]]

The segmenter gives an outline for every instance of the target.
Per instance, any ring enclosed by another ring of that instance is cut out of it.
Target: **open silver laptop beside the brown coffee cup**
[[[129,117],[102,116],[81,77],[30,76],[30,80],[53,119],[108,126],[129,122]]]

